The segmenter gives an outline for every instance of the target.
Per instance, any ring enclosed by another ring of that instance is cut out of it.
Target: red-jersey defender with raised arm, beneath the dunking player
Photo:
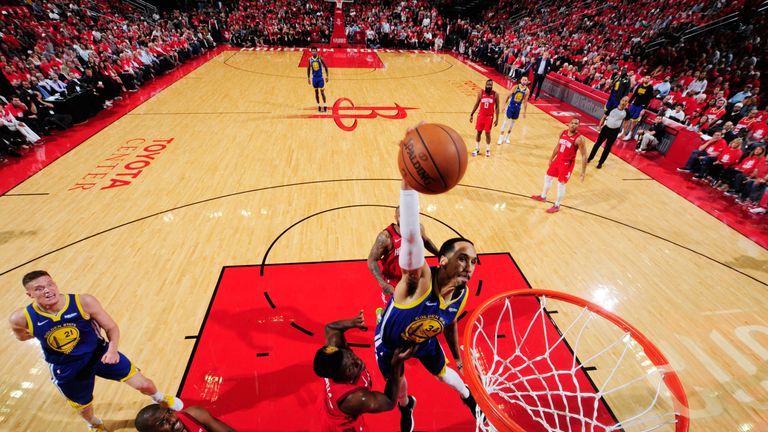
[[[363,311],[355,318],[326,325],[325,345],[315,353],[315,374],[325,378],[325,392],[321,397],[326,414],[320,429],[323,432],[361,432],[365,430],[363,414],[394,409],[400,393],[403,362],[413,354],[413,348],[398,350],[392,357],[392,368],[396,371],[393,376],[397,379],[387,381],[384,393],[373,391],[368,368],[344,339],[344,332],[353,328],[368,330]]]

